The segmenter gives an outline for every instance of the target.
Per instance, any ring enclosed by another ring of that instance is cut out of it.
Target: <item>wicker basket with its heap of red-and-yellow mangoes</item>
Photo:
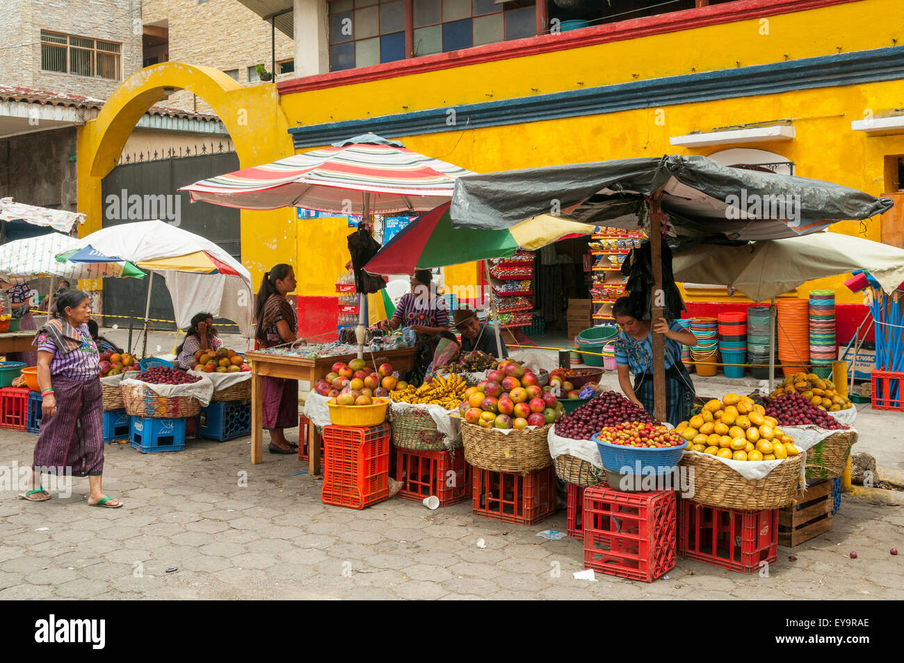
[[[467,462],[494,472],[550,467],[547,433],[565,414],[551,390],[540,386],[536,374],[516,364],[506,365],[504,372],[490,371],[484,382],[469,387],[459,406]]]

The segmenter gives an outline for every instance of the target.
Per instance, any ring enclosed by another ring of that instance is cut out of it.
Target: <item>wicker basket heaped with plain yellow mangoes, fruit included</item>
[[[681,465],[692,469],[695,502],[759,511],[795,498],[806,454],[749,396],[711,399],[675,431],[690,444]]]

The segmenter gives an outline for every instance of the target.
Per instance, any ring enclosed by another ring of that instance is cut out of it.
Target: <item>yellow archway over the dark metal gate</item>
[[[242,168],[295,154],[276,85],[245,88],[222,71],[184,62],[146,67],[123,81],[98,117],[78,130],[78,209],[87,217],[81,235],[101,228],[101,181],[117,165],[138,120],[152,106],[165,106],[174,90],[190,90],[210,104],[229,131]],[[269,269],[274,254],[294,261],[296,231],[292,223],[287,232],[290,218],[285,210],[242,211],[241,259],[252,278]],[[100,288],[99,284],[86,286]]]

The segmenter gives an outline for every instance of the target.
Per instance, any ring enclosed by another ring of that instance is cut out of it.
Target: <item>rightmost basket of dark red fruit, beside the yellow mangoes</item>
[[[831,416],[800,393],[785,393],[769,401],[766,413],[786,431],[820,440],[806,450],[806,478],[841,477],[857,431]]]

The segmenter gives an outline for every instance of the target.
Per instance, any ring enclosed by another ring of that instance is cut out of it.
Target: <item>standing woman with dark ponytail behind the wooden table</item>
[[[264,347],[296,341],[298,318],[289,306],[287,293],[295,289],[295,272],[278,264],[260,283],[255,317],[256,337]],[[270,431],[270,453],[294,453],[298,445],[286,440],[284,429],[298,425],[298,381],[263,377],[264,428]]]

